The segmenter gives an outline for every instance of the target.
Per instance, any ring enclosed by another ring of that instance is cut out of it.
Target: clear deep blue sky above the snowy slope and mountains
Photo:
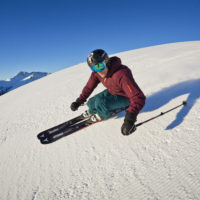
[[[0,0],[0,80],[109,54],[200,40],[200,0]]]

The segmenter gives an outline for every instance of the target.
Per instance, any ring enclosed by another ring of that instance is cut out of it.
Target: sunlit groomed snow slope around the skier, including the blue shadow
[[[200,199],[200,41],[116,55],[147,96],[137,122],[184,100],[187,106],[127,137],[120,133],[123,113],[42,145],[39,132],[86,110],[69,107],[91,73],[87,64],[1,96],[0,200]]]

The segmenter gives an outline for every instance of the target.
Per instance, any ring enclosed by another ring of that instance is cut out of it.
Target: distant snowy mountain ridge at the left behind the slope
[[[13,78],[0,80],[0,96],[27,83],[47,76],[47,72],[19,72]]]

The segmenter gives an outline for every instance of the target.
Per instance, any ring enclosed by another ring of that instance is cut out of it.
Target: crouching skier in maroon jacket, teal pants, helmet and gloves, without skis
[[[112,110],[129,106],[121,132],[123,135],[130,135],[136,130],[137,115],[145,104],[145,96],[135,82],[131,70],[121,64],[120,58],[109,58],[102,49],[92,51],[87,63],[93,72],[79,98],[71,104],[71,110],[76,111],[86,102],[101,82],[107,89],[88,100],[88,112],[108,119]]]

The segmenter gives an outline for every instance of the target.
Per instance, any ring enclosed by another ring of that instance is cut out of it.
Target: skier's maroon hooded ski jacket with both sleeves
[[[98,73],[92,72],[86,86],[80,95],[80,100],[85,102],[97,85],[101,82],[108,91],[114,95],[121,95],[130,102],[128,112],[136,115],[145,104],[145,96],[135,82],[131,70],[121,64],[121,59],[111,57],[109,59],[109,70],[105,78],[101,78]]]

